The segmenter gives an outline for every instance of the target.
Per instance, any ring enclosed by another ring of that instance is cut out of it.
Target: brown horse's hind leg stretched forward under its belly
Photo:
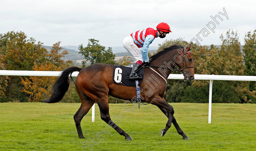
[[[108,106],[108,97],[106,96],[104,99],[100,99],[98,102],[98,106],[101,112],[101,119],[106,122],[109,126],[115,129],[120,135],[125,136],[126,140],[133,140],[130,135],[125,133],[123,129],[118,127],[116,123],[114,123],[109,116],[109,106]]]

